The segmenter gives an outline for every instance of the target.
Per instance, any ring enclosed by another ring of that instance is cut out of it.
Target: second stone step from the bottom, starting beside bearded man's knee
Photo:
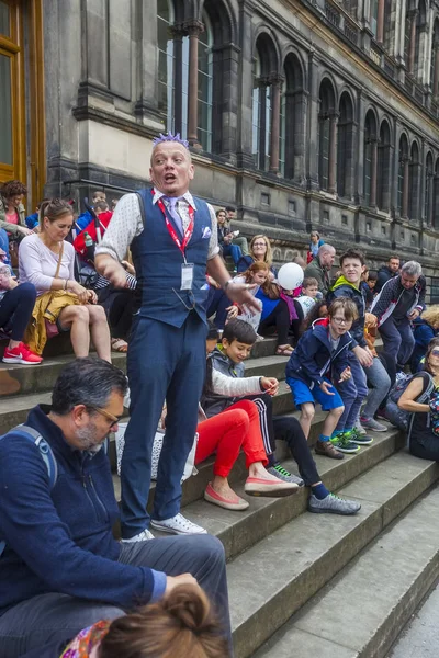
[[[371,500],[376,491],[363,476],[356,517],[301,514],[227,566],[236,658],[251,656],[439,477],[436,464],[405,453],[384,464],[398,477],[390,478],[380,502]],[[374,468],[383,465],[369,474]],[[349,486],[339,492],[348,494]]]

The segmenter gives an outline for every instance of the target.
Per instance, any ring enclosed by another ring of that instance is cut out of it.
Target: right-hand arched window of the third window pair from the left
[[[337,192],[350,198],[353,191],[353,106],[350,95],[341,94],[338,106]]]

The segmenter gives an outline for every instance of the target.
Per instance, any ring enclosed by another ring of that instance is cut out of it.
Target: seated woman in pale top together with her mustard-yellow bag
[[[75,355],[87,356],[90,332],[98,355],[111,361],[110,330],[104,309],[93,291],[74,277],[75,249],[66,241],[74,215],[59,198],[42,204],[38,234],[20,246],[20,282],[36,287],[36,304],[26,330],[26,344],[42,354],[47,339],[70,330]]]

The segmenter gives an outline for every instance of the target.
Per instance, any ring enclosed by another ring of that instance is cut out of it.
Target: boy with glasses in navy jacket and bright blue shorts
[[[328,411],[315,452],[333,460],[342,460],[342,452],[354,453],[357,444],[346,443],[342,452],[330,442],[334,430],[345,411],[342,386],[351,378],[349,351],[358,343],[349,333],[358,310],[353,302],[340,297],[333,302],[328,317],[317,320],[305,331],[286,364],[286,384],[294,404],[301,410],[300,423],[307,438],[315,413],[315,404]]]

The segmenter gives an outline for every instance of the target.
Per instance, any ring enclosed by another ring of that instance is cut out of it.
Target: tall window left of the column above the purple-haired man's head
[[[157,0],[158,110],[166,116],[166,129],[173,131],[173,5]]]

